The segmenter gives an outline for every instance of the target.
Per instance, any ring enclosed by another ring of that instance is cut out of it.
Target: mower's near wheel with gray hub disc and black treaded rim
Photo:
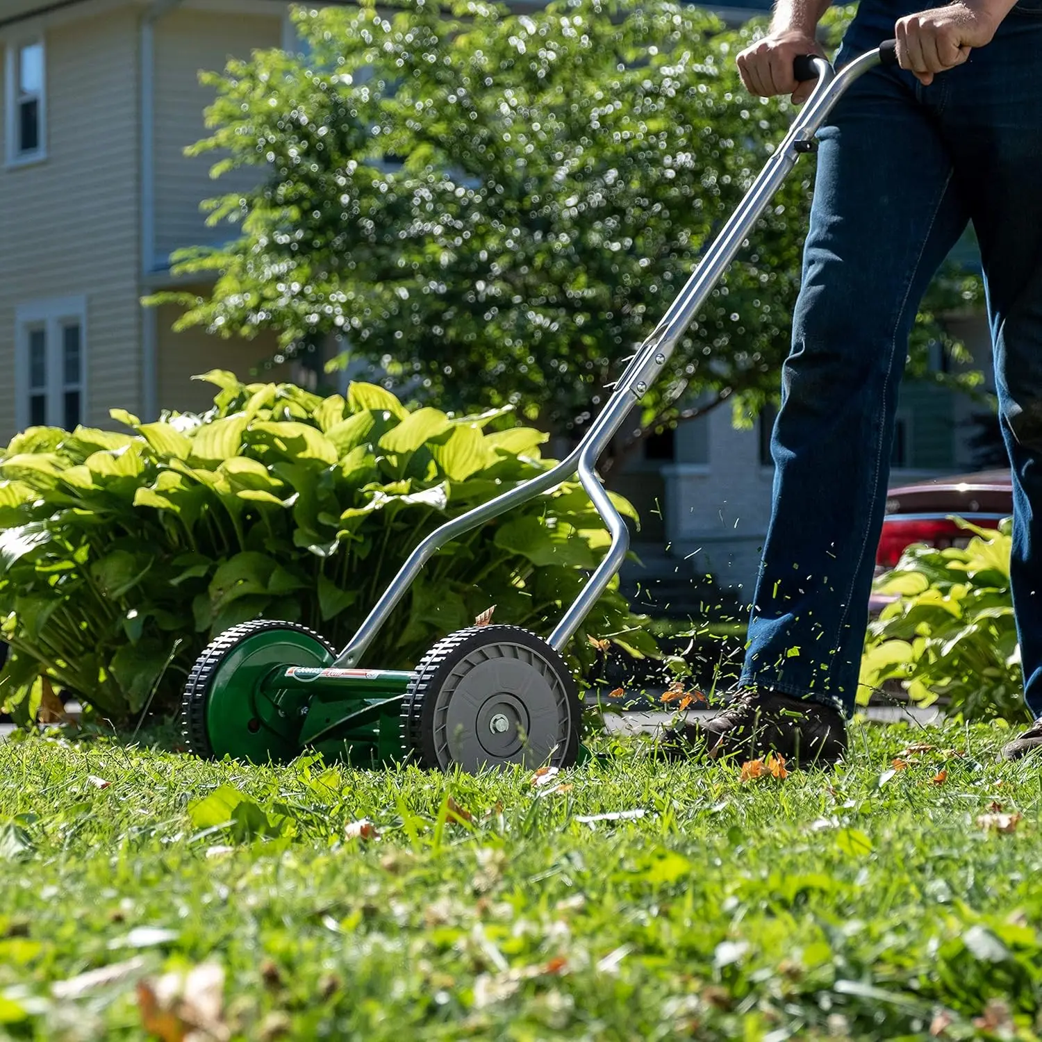
[[[439,641],[402,702],[402,742],[424,767],[570,767],[580,709],[565,661],[517,626],[473,626]]]

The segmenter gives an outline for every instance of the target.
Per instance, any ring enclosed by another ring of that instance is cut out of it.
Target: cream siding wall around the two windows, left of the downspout
[[[4,440],[15,430],[10,374],[21,304],[86,298],[86,422],[140,402],[138,26],[138,11],[127,7],[45,28],[47,159],[0,167]]]

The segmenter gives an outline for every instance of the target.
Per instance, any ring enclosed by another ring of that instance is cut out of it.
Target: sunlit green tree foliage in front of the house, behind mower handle
[[[205,77],[196,152],[260,176],[209,204],[237,238],[179,256],[218,276],[176,298],[180,325],[275,330],[283,353],[339,337],[418,400],[581,428],[785,133],[789,103],[736,71],[755,26],[668,0],[391,9],[298,10],[306,56]],[[782,188],[630,437],[776,395],[812,176]],[[920,318],[919,358],[941,336]]]

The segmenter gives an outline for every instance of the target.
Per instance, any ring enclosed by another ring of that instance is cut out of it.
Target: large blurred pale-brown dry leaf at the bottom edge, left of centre
[[[225,1042],[224,969],[200,963],[138,985],[142,1026],[162,1042]]]

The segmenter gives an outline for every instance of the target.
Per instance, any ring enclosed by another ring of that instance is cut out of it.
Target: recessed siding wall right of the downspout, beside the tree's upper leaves
[[[281,43],[282,10],[270,17],[218,15],[180,8],[155,26],[155,265],[184,246],[230,238],[207,228],[199,203],[256,183],[254,171],[234,171],[215,181],[213,153],[190,158],[184,149],[207,135],[203,109],[214,92],[199,72],[221,72],[229,57],[249,58]]]

